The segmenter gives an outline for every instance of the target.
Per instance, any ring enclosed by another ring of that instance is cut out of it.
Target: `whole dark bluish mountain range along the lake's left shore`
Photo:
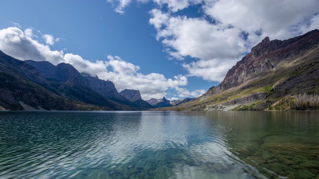
[[[23,106],[45,110],[148,109],[134,102],[121,95],[111,81],[81,74],[70,64],[20,61],[0,51],[1,110],[23,110]]]

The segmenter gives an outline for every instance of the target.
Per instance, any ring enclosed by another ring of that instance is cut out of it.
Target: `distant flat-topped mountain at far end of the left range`
[[[120,92],[122,96],[133,102],[136,106],[141,109],[147,110],[154,108],[151,104],[142,99],[141,93],[139,90],[135,89],[124,89]]]

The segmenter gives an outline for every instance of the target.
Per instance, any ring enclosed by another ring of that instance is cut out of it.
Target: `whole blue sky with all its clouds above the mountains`
[[[319,0],[293,2],[2,0],[0,50],[70,63],[143,99],[197,97],[266,36],[319,28]]]

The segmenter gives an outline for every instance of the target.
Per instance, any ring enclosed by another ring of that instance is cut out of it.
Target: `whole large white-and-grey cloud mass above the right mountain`
[[[221,82],[266,36],[288,39],[319,28],[318,0],[182,0],[174,7],[173,1],[159,1],[177,10],[201,3],[201,17],[155,8],[150,11],[149,23],[170,59],[192,57],[192,62],[182,63],[187,76],[207,81]]]

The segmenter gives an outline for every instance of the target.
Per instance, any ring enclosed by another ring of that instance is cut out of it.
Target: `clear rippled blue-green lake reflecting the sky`
[[[319,112],[0,112],[0,178],[319,178]]]

